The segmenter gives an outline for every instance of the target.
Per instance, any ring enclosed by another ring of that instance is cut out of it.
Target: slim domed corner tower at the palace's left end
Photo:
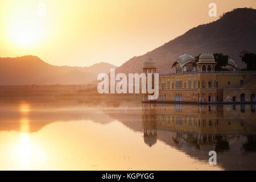
[[[158,68],[156,66],[156,62],[151,58],[148,58],[146,61],[144,61],[142,68],[143,68],[143,73],[146,74],[146,83],[147,83],[147,73],[152,73],[152,88],[154,89],[154,73],[156,73],[156,68]],[[148,101],[148,97],[147,97],[148,95],[150,94],[142,93],[142,102]]]

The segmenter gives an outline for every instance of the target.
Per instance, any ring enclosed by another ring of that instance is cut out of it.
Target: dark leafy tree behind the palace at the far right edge
[[[239,55],[247,70],[256,70],[256,53],[242,51]]]

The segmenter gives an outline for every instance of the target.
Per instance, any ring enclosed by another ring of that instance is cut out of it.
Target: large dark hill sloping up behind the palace
[[[183,53],[196,56],[204,51],[222,52],[236,61],[238,67],[245,68],[245,64],[241,63],[239,57],[243,50],[256,52],[255,9],[234,9],[215,22],[192,28],[153,51],[133,57],[118,67],[115,72],[141,73],[143,61],[148,57],[156,61],[159,73],[173,72],[171,65],[177,56]]]

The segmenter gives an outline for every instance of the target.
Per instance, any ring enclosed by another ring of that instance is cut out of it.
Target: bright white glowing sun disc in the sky
[[[11,28],[11,40],[22,47],[34,46],[42,36],[40,24],[32,21],[17,22]]]

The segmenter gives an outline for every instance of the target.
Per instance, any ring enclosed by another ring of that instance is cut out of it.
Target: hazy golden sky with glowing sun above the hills
[[[212,2],[217,17],[208,15]],[[256,1],[0,0],[0,57],[121,65],[237,7],[255,9]]]

